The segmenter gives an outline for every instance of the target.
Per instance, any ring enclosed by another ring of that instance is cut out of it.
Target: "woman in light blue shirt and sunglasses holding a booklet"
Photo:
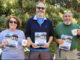
[[[11,16],[6,21],[8,29],[0,33],[0,47],[2,47],[2,60],[13,59],[13,60],[24,60],[24,48],[22,46],[22,40],[25,39],[24,33],[18,28],[21,26],[20,20]]]

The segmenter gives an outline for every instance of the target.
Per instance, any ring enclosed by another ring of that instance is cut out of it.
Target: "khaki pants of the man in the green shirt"
[[[57,50],[56,60],[78,60],[77,49],[71,51]]]

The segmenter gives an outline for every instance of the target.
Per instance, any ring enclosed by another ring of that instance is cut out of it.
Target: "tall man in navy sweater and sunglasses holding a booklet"
[[[45,17],[46,4],[36,3],[36,15],[26,23],[25,36],[30,42],[29,60],[50,60],[49,46],[53,40],[52,22]]]

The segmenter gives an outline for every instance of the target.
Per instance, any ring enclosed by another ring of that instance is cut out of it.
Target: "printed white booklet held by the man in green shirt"
[[[61,39],[64,41],[64,43],[59,45],[59,49],[70,50],[71,42],[72,42],[72,36],[62,34]]]

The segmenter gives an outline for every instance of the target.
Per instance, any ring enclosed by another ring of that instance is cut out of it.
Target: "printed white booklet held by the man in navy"
[[[35,45],[42,47],[46,45],[46,32],[35,32]]]

